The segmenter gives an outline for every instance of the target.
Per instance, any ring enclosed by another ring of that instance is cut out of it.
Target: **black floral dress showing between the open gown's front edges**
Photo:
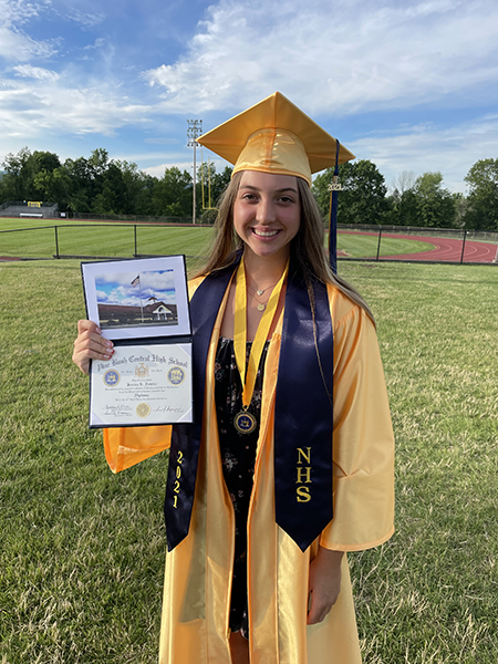
[[[249,412],[258,423],[251,434],[240,434],[234,417],[242,409],[242,386],[234,352],[234,340],[220,338],[215,361],[215,401],[221,464],[234,505],[236,537],[231,587],[230,630],[248,639],[247,615],[247,517],[255,475],[256,448],[261,414],[261,390],[269,342],[264,344]],[[251,342],[247,344],[247,360]]]

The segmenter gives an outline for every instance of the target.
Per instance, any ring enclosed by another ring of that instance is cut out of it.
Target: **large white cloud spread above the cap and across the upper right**
[[[280,90],[313,113],[404,108],[498,80],[495,0],[220,0],[184,58],[144,73],[170,112]]]

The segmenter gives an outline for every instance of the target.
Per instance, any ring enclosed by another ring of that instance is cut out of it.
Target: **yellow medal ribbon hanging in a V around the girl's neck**
[[[247,411],[255,392],[256,376],[258,374],[261,353],[270,331],[271,323],[277,312],[277,307],[282,292],[283,281],[289,271],[289,263],[286,266],[279,282],[271,291],[264,313],[259,321],[252,342],[249,362],[246,371],[246,345],[247,345],[247,293],[246,293],[246,269],[243,258],[237,269],[236,276],[236,310],[234,319],[234,351],[237,362],[237,369],[242,384],[242,409]]]

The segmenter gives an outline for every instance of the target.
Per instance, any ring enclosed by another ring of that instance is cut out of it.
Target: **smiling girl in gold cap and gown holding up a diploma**
[[[159,662],[360,664],[344,553],[393,533],[394,445],[374,322],[310,191],[338,143],[280,93],[199,143],[235,168],[190,282],[196,421],[104,430],[113,471],[170,448]],[[112,354],[90,321],[74,345],[85,373]]]

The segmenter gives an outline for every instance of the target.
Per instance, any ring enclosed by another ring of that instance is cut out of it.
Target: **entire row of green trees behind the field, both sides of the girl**
[[[44,200],[61,211],[104,215],[193,216],[193,177],[188,170],[166,168],[157,178],[126,160],[110,159],[107,151],[94,149],[90,157],[65,159],[50,152],[8,154],[0,179],[0,203]],[[197,173],[196,217],[212,219],[206,211],[218,201],[230,180],[231,168],[217,173],[201,164]],[[329,214],[333,169],[313,180],[312,191],[325,218]],[[203,187],[204,181],[204,187]],[[421,226],[498,230],[498,159],[479,159],[465,181],[468,196],[453,194],[443,175],[403,173],[387,193],[384,176],[369,159],[339,167],[338,219],[342,224]]]

